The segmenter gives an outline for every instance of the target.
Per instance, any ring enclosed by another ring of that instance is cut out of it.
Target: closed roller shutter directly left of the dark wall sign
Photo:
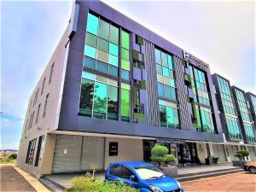
[[[104,169],[104,142],[103,137],[84,137],[82,170],[90,169],[90,164],[97,164],[98,170]]]

